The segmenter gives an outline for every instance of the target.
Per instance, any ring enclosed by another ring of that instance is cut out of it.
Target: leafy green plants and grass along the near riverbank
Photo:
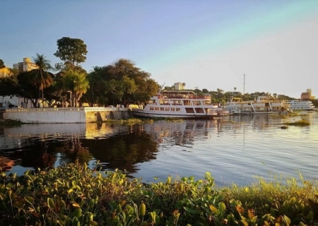
[[[2,173],[0,225],[314,225],[317,192],[317,182],[302,177],[217,188],[206,173],[143,184],[76,162]]]

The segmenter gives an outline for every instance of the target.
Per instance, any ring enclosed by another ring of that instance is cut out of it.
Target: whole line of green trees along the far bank
[[[40,102],[46,102],[49,107],[78,107],[83,106],[84,102],[92,107],[126,106],[144,104],[162,88],[151,78],[151,73],[142,71],[129,59],[119,59],[107,66],[95,66],[88,73],[81,66],[86,61],[87,53],[83,40],[62,37],[57,40],[57,52],[54,53],[61,59],[60,63],[52,66],[43,54],[35,54],[33,61],[37,69],[25,72],[10,69],[11,76],[0,78],[0,96],[19,95],[33,102],[34,107]],[[4,67],[4,61],[0,59],[0,69]],[[173,90],[174,87],[165,86],[164,89]],[[209,93],[211,101],[218,103],[225,103],[232,96],[254,100],[259,95],[271,95],[265,92],[242,94],[236,88],[234,90],[224,92],[220,88],[216,91],[195,88],[192,91],[198,95]],[[273,96],[295,100],[276,93]]]

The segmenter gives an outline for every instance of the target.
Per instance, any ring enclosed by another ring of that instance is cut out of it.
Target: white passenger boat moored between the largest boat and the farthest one
[[[242,101],[239,97],[231,97],[231,100],[225,105],[225,109],[230,111],[230,114],[287,112],[288,107],[288,101],[270,96],[259,96],[256,100],[248,101]]]

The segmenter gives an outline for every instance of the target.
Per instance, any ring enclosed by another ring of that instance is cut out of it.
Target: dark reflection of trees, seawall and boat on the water
[[[18,144],[0,150],[0,156],[14,161],[15,165],[33,169],[57,167],[76,160],[94,167],[98,160],[102,171],[119,169],[133,174],[139,170],[140,163],[156,159],[159,145],[192,146],[196,137],[207,139],[208,129],[219,130],[219,127],[216,121],[189,120],[124,126],[93,124],[86,127],[86,133],[53,132],[23,137],[14,133]]]

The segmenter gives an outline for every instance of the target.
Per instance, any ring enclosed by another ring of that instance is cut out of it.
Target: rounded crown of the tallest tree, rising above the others
[[[75,69],[86,61],[87,46],[78,38],[62,37],[57,40],[57,52],[54,56],[64,61],[66,68]]]

